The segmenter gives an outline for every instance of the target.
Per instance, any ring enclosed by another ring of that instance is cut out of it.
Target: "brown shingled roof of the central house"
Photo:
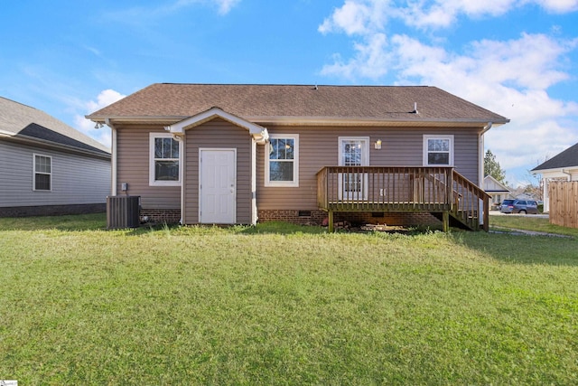
[[[418,113],[414,112],[417,104]],[[253,121],[359,118],[382,121],[507,123],[442,89],[426,86],[305,86],[155,83],[87,118],[188,118],[218,107]]]

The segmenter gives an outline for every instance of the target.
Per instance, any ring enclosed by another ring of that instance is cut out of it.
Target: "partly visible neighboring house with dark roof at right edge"
[[[578,181],[578,144],[568,147],[544,164],[531,170],[532,174],[542,174],[544,186],[544,212],[550,212],[548,184],[550,181]]]

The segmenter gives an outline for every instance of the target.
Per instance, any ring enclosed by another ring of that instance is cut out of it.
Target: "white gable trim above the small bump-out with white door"
[[[256,125],[243,118],[239,118],[233,114],[229,114],[227,111],[224,111],[221,108],[210,108],[197,115],[185,118],[181,122],[177,122],[171,126],[164,127],[164,129],[166,131],[170,131],[173,135],[180,137],[184,134],[185,130],[188,130],[189,128],[192,127],[200,126],[203,123],[208,122],[215,118],[224,119],[235,126],[247,129],[249,134],[255,138],[256,143],[258,144],[265,144],[269,139],[269,133],[267,132],[266,127]]]

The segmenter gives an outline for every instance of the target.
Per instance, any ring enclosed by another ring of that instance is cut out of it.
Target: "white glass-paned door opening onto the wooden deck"
[[[340,166],[368,166],[368,137],[339,137]],[[367,200],[368,174],[353,172],[339,175],[340,200]]]

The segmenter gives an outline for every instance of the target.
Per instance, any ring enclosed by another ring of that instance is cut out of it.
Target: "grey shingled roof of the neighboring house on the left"
[[[0,134],[109,155],[107,146],[84,135],[51,115],[11,99],[0,97]]]

